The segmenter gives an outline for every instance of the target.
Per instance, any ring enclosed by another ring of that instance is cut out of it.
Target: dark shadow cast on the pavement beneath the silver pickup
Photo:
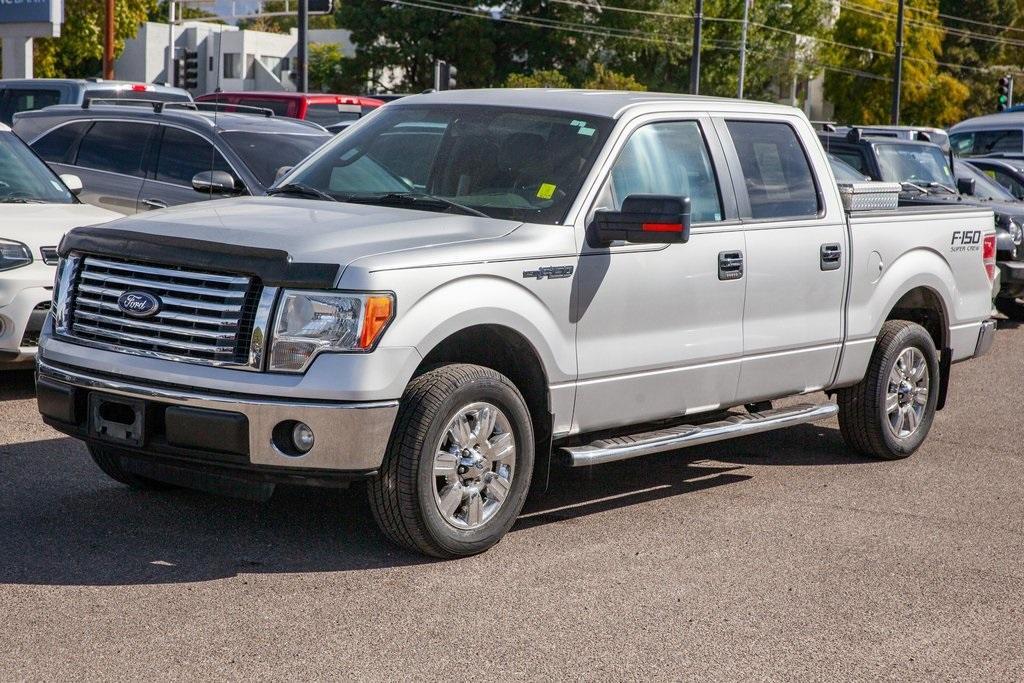
[[[505,543],[522,529],[745,481],[753,477],[739,472],[745,462],[853,462],[831,429],[745,441],[555,468],[549,492],[527,501]],[[0,445],[0,584],[146,585],[431,562],[382,537],[361,486],[282,486],[264,504],[185,489],[137,492],[108,479],[70,438]]]

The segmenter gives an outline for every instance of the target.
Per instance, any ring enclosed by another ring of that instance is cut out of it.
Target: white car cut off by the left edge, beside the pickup
[[[79,202],[81,188],[77,176],[58,177],[0,124],[0,368],[36,357],[63,233],[120,217]]]

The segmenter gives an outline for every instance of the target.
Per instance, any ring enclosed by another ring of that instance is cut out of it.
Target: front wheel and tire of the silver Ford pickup
[[[406,389],[380,475],[368,485],[381,530],[440,558],[481,553],[511,528],[534,470],[519,390],[488,368],[442,366]]]

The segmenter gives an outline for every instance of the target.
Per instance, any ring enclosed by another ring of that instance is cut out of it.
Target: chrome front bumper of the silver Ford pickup
[[[85,391],[152,401],[159,405],[185,405],[246,416],[249,423],[249,462],[252,465],[299,470],[368,471],[380,467],[398,412],[398,401],[331,403],[287,398],[243,398],[191,392],[170,387],[136,384],[56,367],[44,360],[38,375],[49,381]],[[273,430],[282,422],[300,421],[312,428],[315,441],[302,456],[290,456],[273,443]],[[50,424],[68,434],[87,438],[87,426]],[[67,427],[67,428],[65,428]],[[146,445],[133,449],[142,453]]]

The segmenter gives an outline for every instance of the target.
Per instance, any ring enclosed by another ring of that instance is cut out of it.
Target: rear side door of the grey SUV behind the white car
[[[82,178],[79,199],[123,214],[135,213],[155,124],[96,121],[78,143],[69,172]]]

